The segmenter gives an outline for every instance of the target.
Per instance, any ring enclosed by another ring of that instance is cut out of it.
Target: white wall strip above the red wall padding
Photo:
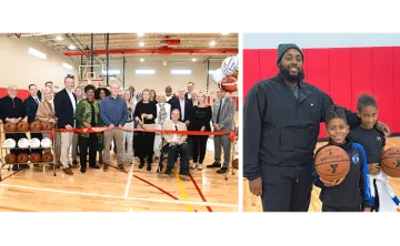
[[[399,27],[241,27],[242,49],[277,49],[280,43],[304,48],[399,47]]]

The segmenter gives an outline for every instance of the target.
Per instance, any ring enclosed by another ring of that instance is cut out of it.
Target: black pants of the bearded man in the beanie
[[[299,166],[262,166],[262,208],[307,213],[312,191],[312,161]]]

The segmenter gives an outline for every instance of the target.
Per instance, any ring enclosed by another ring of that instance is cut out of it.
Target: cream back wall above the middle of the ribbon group
[[[126,63],[126,88],[133,85],[137,92],[141,92],[143,89],[153,89],[157,93],[164,91],[167,85],[172,88],[172,92],[178,92],[181,86],[187,86],[189,81],[194,83],[196,90],[207,89],[207,63],[203,62],[169,62],[163,65],[161,62],[134,62],[127,61]],[[221,62],[210,62],[210,70],[221,68]],[[106,69],[106,68],[104,68]],[[170,70],[191,70],[189,75],[174,75],[170,73]],[[122,63],[110,63],[110,70],[120,70],[118,75],[122,80]],[[136,74],[136,70],[156,70],[156,74]],[[209,89],[210,91],[217,89],[217,84],[212,82],[212,75],[209,75]],[[236,95],[236,93],[232,93]]]

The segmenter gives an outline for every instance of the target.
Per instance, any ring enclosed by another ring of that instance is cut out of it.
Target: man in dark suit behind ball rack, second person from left
[[[36,84],[29,85],[29,96],[23,101],[23,110],[26,115],[28,116],[28,123],[32,123],[37,119],[38,107],[40,104],[40,100],[38,96],[38,86]],[[42,140],[41,133],[31,133],[31,139]],[[42,154],[41,148],[31,150],[31,153]],[[34,164],[38,166],[38,164]]]

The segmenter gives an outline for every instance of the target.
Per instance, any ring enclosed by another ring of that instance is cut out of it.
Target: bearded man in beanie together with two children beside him
[[[373,95],[362,94],[357,113],[336,105],[303,81],[304,57],[293,43],[278,47],[280,72],[256,83],[241,110],[241,176],[261,196],[263,212],[308,212],[313,185],[321,188],[322,212],[396,212],[399,199],[379,162],[390,135],[378,121]],[[320,123],[329,143],[350,157],[344,178],[328,182],[314,168]],[[378,188],[378,183],[386,188]]]

